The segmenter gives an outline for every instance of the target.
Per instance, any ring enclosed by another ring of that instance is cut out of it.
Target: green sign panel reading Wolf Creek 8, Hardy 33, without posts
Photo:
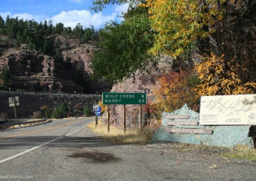
[[[145,105],[147,95],[135,92],[103,92],[102,103],[103,105]]]

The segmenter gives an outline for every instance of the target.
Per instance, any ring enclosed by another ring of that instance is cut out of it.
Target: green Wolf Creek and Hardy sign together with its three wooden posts
[[[124,105],[124,133],[126,129],[125,105],[140,105],[140,131],[142,130],[142,105],[147,103],[147,94],[138,92],[103,92],[102,104],[108,105],[108,133],[110,122],[109,105]]]

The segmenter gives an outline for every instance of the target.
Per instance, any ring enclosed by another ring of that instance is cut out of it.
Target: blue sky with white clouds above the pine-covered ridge
[[[111,20],[120,21],[125,5],[111,5],[102,12],[91,11],[92,0],[0,0],[0,15],[5,20],[7,15],[24,20],[44,22],[52,20],[53,24],[63,23],[65,27],[83,27],[93,25],[96,29],[104,27]]]

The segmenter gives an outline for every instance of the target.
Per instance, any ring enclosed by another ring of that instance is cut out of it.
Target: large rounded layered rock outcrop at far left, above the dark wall
[[[74,83],[63,65],[40,52],[19,50],[0,59],[0,67],[7,66],[12,91],[83,92]]]

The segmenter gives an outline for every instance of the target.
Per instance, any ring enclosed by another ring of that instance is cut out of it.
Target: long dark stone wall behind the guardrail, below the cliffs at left
[[[93,115],[93,105],[101,99],[99,94],[48,94],[42,92],[0,92],[0,117],[14,119],[14,108],[9,107],[8,98],[19,97],[20,105],[16,107],[17,118],[44,117],[44,110],[50,112],[66,103],[70,117],[83,116],[84,107],[88,106]]]

